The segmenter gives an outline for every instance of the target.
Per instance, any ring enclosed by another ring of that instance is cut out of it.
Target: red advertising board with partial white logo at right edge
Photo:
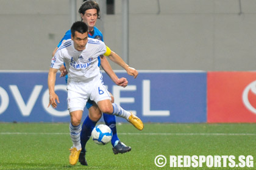
[[[207,122],[256,122],[256,72],[207,73]]]

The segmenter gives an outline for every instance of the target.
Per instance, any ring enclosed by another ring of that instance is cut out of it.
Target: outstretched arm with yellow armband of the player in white
[[[107,46],[106,46],[107,47]],[[105,56],[108,56],[111,61],[118,64],[119,66],[123,67],[124,70],[126,70],[128,75],[133,76],[133,78],[136,78],[138,76],[138,72],[136,69],[130,67],[128,64],[124,62],[124,60],[119,56],[117,53],[110,50],[109,47],[107,47],[107,52],[104,53]]]

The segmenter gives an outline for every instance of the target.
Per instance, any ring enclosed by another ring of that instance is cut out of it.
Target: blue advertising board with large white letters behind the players
[[[206,122],[206,72],[139,71],[136,79],[126,72],[116,72],[129,81],[116,86],[106,73],[104,83],[126,110],[144,122]],[[60,103],[48,107],[47,72],[0,72],[0,121],[68,122],[65,78],[57,74],[55,92]],[[83,119],[88,115],[85,108]],[[116,118],[117,121],[126,121]]]

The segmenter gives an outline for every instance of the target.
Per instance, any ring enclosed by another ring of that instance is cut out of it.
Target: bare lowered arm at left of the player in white
[[[48,89],[49,89],[49,104],[52,105],[52,107],[56,108],[57,103],[60,103],[59,97],[57,94],[54,92],[54,86],[55,86],[55,80],[56,80],[56,73],[58,72],[58,69],[50,68],[49,73],[48,73]]]

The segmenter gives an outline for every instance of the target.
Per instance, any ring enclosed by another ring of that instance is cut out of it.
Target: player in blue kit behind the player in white
[[[97,21],[97,19],[99,19],[99,12],[100,12],[99,5],[95,1],[85,1],[80,6],[80,9],[79,9],[79,13],[80,13],[82,21],[84,21],[88,25],[89,38],[95,38],[95,39],[104,41],[102,33],[97,29],[97,27],[95,27],[96,21]],[[65,36],[62,38],[62,40],[59,42],[58,47],[60,47],[62,42],[65,42],[66,39],[70,39],[70,38],[71,38],[71,31],[68,30],[66,32]],[[57,50],[57,48],[55,49],[55,51],[56,50]],[[55,51],[54,51],[54,53],[55,53]],[[108,75],[110,75],[109,72],[111,72],[111,74],[114,74],[110,64],[108,63],[108,61],[105,57],[104,58],[99,57],[99,66],[100,65],[105,70],[105,72],[108,73]],[[122,66],[122,67],[124,67],[127,70],[127,73],[129,75],[132,75],[134,78],[137,77],[137,75],[138,75],[137,70],[133,69],[132,67],[129,67],[127,64],[126,64],[126,66]],[[60,69],[60,70],[65,70],[65,67],[62,67],[62,69]],[[67,80],[67,77],[66,77],[66,80]],[[113,78],[112,78],[112,80],[113,80]],[[117,82],[115,82],[115,83],[118,84]],[[125,87],[125,86],[127,86],[127,82],[121,82],[118,85]],[[112,96],[112,103],[113,103],[113,101],[114,101],[114,98]],[[91,136],[91,131],[93,130],[94,126],[96,125],[96,123],[98,122],[98,120],[100,118],[100,117],[93,117],[92,115],[96,115],[96,114],[90,114],[90,113],[98,112],[98,115],[100,115],[99,112],[101,112],[99,110],[98,106],[96,105],[96,103],[94,103],[93,101],[88,101],[86,106],[87,106],[87,109],[89,110],[89,114],[88,114],[87,118],[85,118],[85,121],[82,125],[82,132],[81,132],[81,136],[80,136],[80,140],[81,140],[81,144],[82,144],[82,151],[80,152],[80,155],[79,155],[79,162],[81,163],[81,165],[87,165],[87,161],[85,160],[85,152],[86,152],[85,145]],[[126,144],[122,143],[119,140],[118,135],[116,133],[115,116],[103,114],[103,117],[104,117],[105,124],[107,124],[110,127],[110,129],[112,129],[112,132],[113,132],[113,137],[112,137],[113,148],[112,149],[113,149],[114,154],[118,154],[118,153],[123,154],[125,152],[129,152],[131,150],[130,146],[126,146]]]

